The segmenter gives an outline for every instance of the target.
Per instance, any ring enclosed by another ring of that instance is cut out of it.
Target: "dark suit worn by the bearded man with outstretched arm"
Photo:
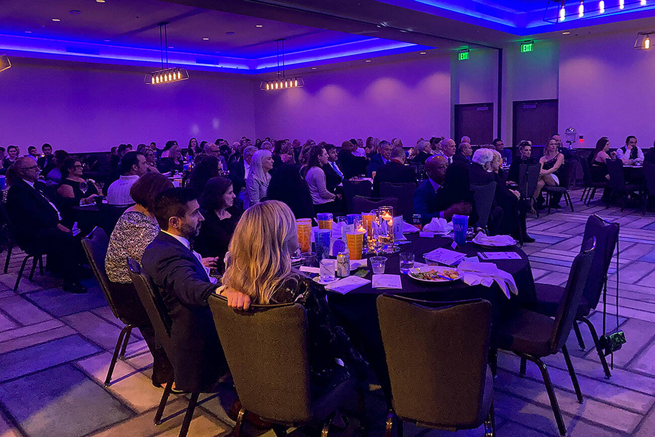
[[[171,320],[169,356],[179,389],[210,389],[226,370],[207,297],[216,289],[200,260],[184,244],[160,232],[143,257],[143,273],[159,289]]]

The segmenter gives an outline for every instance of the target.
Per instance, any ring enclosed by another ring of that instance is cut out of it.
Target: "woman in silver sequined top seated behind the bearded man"
[[[155,340],[155,330],[134,290],[126,260],[130,257],[141,263],[143,251],[159,234],[159,225],[153,215],[155,197],[172,187],[173,183],[159,173],[144,174],[132,185],[130,195],[136,204],[125,210],[116,223],[105,256],[113,304],[125,322],[137,326],[143,335],[153,355],[152,381],[156,387],[166,384],[172,369],[166,352]]]

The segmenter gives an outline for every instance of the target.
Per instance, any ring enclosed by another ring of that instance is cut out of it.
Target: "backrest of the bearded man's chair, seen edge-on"
[[[166,354],[168,356],[174,356],[170,341],[172,321],[168,316],[166,305],[164,305],[157,286],[153,284],[153,281],[148,276],[141,273],[141,266],[134,259],[127,259],[127,267],[130,271],[130,278],[132,278],[132,284],[134,284],[136,293],[139,295],[139,299],[145,308],[145,312],[148,314],[151,324],[153,324],[153,328],[155,328],[155,337],[162,343]]]

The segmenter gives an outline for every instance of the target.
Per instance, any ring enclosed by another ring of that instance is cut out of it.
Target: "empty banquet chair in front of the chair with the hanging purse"
[[[582,251],[575,257],[571,265],[566,291],[557,306],[554,319],[527,309],[518,309],[509,318],[498,322],[491,332],[492,347],[514,352],[521,357],[522,375],[525,374],[527,360],[531,360],[538,366],[544,379],[544,385],[546,385],[559,434],[562,436],[566,435],[567,430],[559,410],[559,404],[557,404],[548,369],[541,358],[562,351],[569,369],[573,389],[578,402],[582,404],[582,392],[580,391],[580,385],[578,385],[578,377],[576,377],[571,356],[569,356],[566,346],[569,333],[571,333],[571,328],[575,323],[576,311],[580,306],[584,285],[591,269],[595,238],[586,240],[582,245]]]

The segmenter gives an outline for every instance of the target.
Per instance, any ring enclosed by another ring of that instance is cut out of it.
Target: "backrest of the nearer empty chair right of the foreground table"
[[[595,238],[582,242],[582,252],[573,259],[564,296],[559,302],[557,313],[555,314],[555,324],[550,339],[551,353],[559,351],[569,338],[569,333],[571,333],[571,328],[578,313],[580,301],[582,301],[584,284],[591,270],[591,261],[593,261],[595,253],[594,247]]]

